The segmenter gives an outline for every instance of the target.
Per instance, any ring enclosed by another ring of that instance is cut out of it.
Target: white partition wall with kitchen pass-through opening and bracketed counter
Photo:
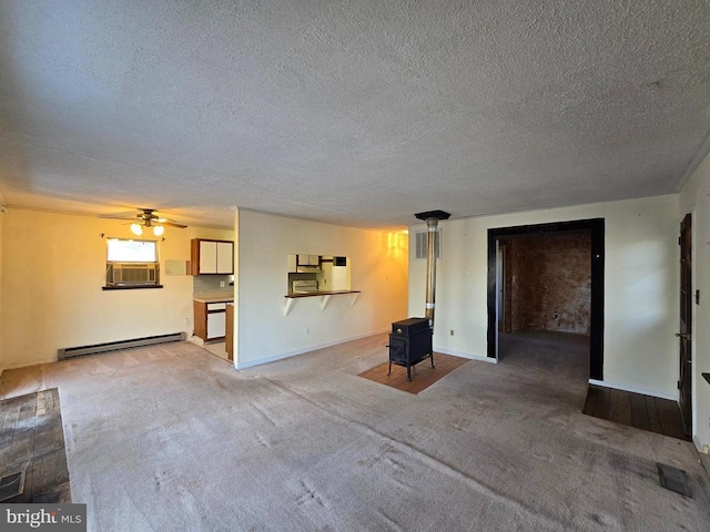
[[[237,368],[388,330],[406,317],[406,236],[243,209],[235,231]],[[351,288],[362,290],[355,305],[349,295],[332,296],[321,310],[321,297],[300,298],[284,316],[286,257],[294,253],[347,256]]]

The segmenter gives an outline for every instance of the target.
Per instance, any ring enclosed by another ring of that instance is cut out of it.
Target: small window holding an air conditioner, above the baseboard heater
[[[160,288],[158,243],[109,238],[106,241],[106,284],[109,288]]]

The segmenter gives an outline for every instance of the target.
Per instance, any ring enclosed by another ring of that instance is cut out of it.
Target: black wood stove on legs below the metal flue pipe
[[[407,380],[412,380],[412,366],[427,357],[434,367],[432,328],[428,318],[409,318],[392,324],[389,334],[389,374],[392,364],[407,368]]]

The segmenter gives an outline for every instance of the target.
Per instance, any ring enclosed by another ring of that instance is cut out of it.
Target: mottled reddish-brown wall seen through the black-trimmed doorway
[[[505,328],[589,334],[588,234],[515,238],[505,248]]]

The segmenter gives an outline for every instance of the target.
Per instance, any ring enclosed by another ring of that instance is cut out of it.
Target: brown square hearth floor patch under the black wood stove
[[[434,366],[436,366],[436,368],[432,368],[428,358],[423,360],[412,367],[412,381],[407,380],[407,368],[395,366],[394,364],[392,365],[392,375],[387,375],[389,362],[368,369],[359,374],[359,377],[402,391],[408,391],[409,393],[418,393],[466,362],[470,362],[470,360],[435,352]]]

